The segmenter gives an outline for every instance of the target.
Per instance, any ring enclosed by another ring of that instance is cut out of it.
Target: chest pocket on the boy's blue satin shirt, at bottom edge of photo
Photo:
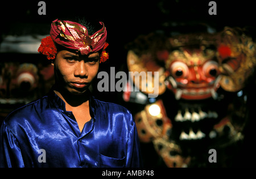
[[[113,157],[108,157],[100,154],[100,160],[98,163],[98,167],[105,168],[105,167],[111,167],[111,168],[122,168],[125,167],[125,159],[126,157],[123,157],[122,159],[117,159]]]

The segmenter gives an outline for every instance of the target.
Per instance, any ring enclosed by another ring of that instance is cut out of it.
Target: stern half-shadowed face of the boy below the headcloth
[[[78,55],[71,51],[59,51],[54,62],[55,80],[71,94],[83,94],[96,77],[100,54]]]

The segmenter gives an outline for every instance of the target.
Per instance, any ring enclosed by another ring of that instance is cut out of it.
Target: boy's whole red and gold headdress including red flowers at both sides
[[[38,52],[47,56],[48,60],[55,59],[57,49],[53,41],[69,49],[80,51],[81,55],[88,55],[90,52],[97,52],[103,49],[100,63],[108,59],[109,55],[105,48],[106,43],[106,27],[103,22],[100,22],[102,28],[93,35],[88,34],[86,27],[79,23],[68,20],[54,20],[51,24],[50,35],[42,39],[42,43],[38,48]]]

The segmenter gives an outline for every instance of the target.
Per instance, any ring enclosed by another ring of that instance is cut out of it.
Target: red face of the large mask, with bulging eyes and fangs
[[[168,85],[176,99],[216,98],[219,88],[218,63],[213,50],[181,49],[171,55]]]

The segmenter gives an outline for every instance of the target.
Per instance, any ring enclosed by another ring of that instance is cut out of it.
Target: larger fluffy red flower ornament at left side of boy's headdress
[[[51,36],[47,36],[46,38],[42,39],[40,47],[38,48],[38,52],[46,55],[48,60],[55,59],[57,49]]]

